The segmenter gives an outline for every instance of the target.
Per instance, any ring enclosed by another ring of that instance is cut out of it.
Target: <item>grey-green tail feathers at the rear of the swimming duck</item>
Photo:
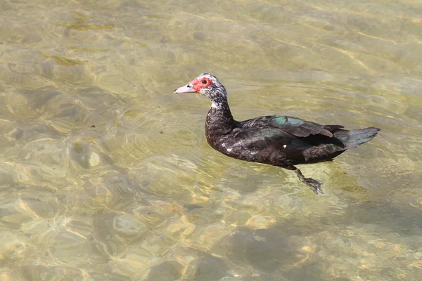
[[[375,138],[378,131],[381,131],[381,129],[368,127],[365,129],[355,129],[350,131],[338,130],[335,131],[333,135],[345,145],[345,149],[349,149],[356,148],[363,143],[371,141],[371,139]]]

